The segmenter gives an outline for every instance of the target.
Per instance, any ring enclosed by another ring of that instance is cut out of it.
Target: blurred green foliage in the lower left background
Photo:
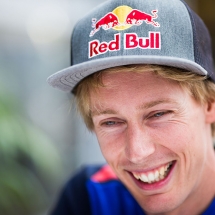
[[[0,214],[42,214],[61,175],[50,140],[0,94]]]

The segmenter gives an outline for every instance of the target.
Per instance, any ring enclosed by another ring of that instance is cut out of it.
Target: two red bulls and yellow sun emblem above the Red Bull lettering
[[[92,19],[93,30],[90,32],[90,37],[101,28],[103,30],[125,30],[133,25],[142,25],[143,22],[153,25],[154,27],[160,27],[160,24],[154,21],[154,19],[158,18],[157,13],[158,10],[152,10],[151,14],[149,14],[137,9],[132,9],[129,6],[119,6],[112,12],[104,15],[98,21],[95,18]]]

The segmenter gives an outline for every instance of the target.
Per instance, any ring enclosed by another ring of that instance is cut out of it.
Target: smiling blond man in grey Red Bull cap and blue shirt
[[[92,22],[92,26],[91,26]],[[109,0],[72,36],[72,91],[108,163],[86,167],[52,214],[215,214],[210,36],[181,0]]]

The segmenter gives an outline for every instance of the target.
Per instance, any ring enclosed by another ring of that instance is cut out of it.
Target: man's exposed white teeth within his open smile
[[[173,162],[169,162],[153,171],[149,171],[147,173],[132,173],[133,176],[142,182],[151,184],[155,182],[159,182],[167,177],[168,173],[170,172],[171,166]]]

